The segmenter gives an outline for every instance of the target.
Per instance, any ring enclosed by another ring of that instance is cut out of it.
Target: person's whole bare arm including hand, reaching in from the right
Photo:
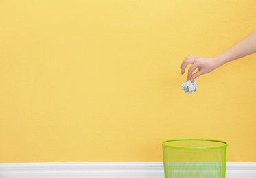
[[[187,65],[191,64],[188,69],[187,81],[194,81],[196,77],[209,73],[226,62],[237,60],[252,53],[256,53],[256,31],[253,31],[253,33],[246,36],[246,38],[240,42],[237,42],[233,47],[213,58],[202,58],[194,55],[187,56],[181,64],[181,74],[184,74]],[[193,73],[196,68],[198,68],[198,71]]]

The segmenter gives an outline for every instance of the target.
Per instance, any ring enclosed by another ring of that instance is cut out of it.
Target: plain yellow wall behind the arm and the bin
[[[0,162],[162,161],[160,142],[229,142],[256,162],[256,55],[180,89],[186,55],[256,29],[254,0],[0,1]]]

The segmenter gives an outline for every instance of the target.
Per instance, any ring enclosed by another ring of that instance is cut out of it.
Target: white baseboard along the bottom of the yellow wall
[[[164,178],[162,162],[0,163],[0,178]],[[256,162],[226,163],[226,178],[256,178]]]

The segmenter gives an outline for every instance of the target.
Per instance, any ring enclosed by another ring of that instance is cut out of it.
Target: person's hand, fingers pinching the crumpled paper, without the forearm
[[[187,65],[191,64],[187,73],[187,81],[194,81],[196,77],[209,73],[220,66],[217,58],[202,58],[194,55],[189,55],[181,64],[181,74],[184,74]],[[196,69],[198,68],[198,71]],[[194,73],[194,71],[196,71]]]

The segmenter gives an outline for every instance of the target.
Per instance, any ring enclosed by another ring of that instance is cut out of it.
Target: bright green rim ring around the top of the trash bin
[[[216,145],[216,146],[202,146],[202,147],[186,147],[186,146],[177,146],[177,145],[170,145],[170,144],[165,144],[165,142],[175,142],[175,141],[208,141],[208,142],[220,142],[223,143],[221,145]],[[215,139],[208,139],[208,138],[177,138],[177,139],[171,139],[171,140],[164,140],[161,142],[162,146],[165,147],[170,147],[170,148],[175,148],[175,149],[219,149],[219,148],[224,148],[227,147],[229,144],[225,141],[222,140],[215,140]]]

